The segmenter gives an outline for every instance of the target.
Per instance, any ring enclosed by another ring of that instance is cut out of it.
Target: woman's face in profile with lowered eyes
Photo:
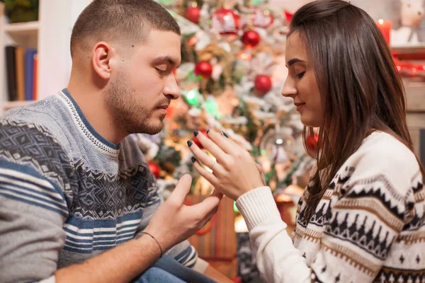
[[[301,122],[307,127],[322,127],[322,101],[314,75],[310,56],[301,41],[299,33],[293,33],[286,40],[286,67],[288,77],[282,95],[293,98],[300,112]]]

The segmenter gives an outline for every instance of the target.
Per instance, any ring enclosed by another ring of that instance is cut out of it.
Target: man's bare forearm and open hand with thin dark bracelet
[[[145,231],[159,242],[163,252],[192,236],[217,212],[222,195],[213,192],[199,204],[183,204],[191,188],[191,177],[184,175],[174,192],[155,212]],[[55,272],[56,282],[130,282],[147,270],[159,257],[157,243],[142,237],[121,244],[86,260]]]

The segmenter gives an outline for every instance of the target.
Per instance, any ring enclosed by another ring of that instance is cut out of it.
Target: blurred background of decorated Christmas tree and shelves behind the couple
[[[291,233],[296,204],[314,159],[302,144],[292,99],[283,98],[285,40],[293,13],[309,0],[158,0],[181,26],[182,64],[164,130],[133,134],[164,198],[181,175],[193,176],[187,203],[210,184],[193,169],[186,141],[193,131],[224,131],[263,166]],[[0,115],[67,86],[72,26],[90,0],[0,1]],[[352,0],[376,21],[390,45],[407,95],[415,154],[425,162],[425,6],[423,0]],[[367,70],[365,70],[367,71]],[[196,140],[195,140],[196,141]],[[305,146],[316,150],[317,137]],[[243,168],[241,168],[243,170]],[[235,282],[261,282],[249,237],[234,202],[225,198],[190,239],[199,256]]]

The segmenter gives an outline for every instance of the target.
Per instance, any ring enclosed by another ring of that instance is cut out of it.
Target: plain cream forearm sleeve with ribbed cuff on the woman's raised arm
[[[310,282],[310,268],[293,246],[269,187],[246,192],[236,202],[249,229],[256,266],[265,282]]]

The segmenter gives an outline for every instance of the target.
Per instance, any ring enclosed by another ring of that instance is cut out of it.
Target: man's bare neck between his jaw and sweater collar
[[[67,89],[91,127],[104,139],[120,144],[127,134],[116,125],[115,118],[106,109],[102,89],[73,79],[69,81]]]

